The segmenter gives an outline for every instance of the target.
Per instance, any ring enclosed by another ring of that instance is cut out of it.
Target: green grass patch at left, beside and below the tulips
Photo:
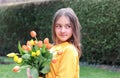
[[[5,63],[0,64],[0,78],[27,78],[26,70],[19,73],[12,72],[12,68],[16,65],[12,58],[0,57],[0,60]]]

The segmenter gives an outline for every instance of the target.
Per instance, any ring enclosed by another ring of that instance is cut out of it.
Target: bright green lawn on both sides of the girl
[[[5,59],[4,61],[11,61],[11,59]],[[0,78],[27,78],[26,70],[13,73],[12,68],[14,66],[15,64],[0,64]],[[120,78],[120,72],[81,66],[80,78]]]

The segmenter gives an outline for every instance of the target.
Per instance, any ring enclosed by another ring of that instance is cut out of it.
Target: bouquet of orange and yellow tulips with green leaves
[[[14,72],[19,72],[21,69],[30,68],[33,78],[44,76],[50,71],[50,63],[53,58],[52,52],[49,49],[52,45],[49,39],[45,38],[43,41],[38,40],[36,32],[31,31],[31,40],[27,41],[25,45],[18,42],[19,53],[9,53],[8,57],[12,57],[17,66],[13,68]]]

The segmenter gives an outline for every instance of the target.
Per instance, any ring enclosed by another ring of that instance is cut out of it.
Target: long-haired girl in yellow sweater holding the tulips
[[[53,18],[52,38],[55,52],[46,78],[79,78],[81,56],[78,18],[71,8],[59,9]]]

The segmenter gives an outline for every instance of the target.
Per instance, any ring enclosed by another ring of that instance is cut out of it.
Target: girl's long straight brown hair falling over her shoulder
[[[62,8],[58,10],[53,17],[53,25],[52,25],[52,39],[54,44],[56,44],[56,33],[55,33],[55,23],[61,16],[67,16],[70,19],[70,23],[73,30],[72,37],[68,40],[71,42],[78,50],[79,57],[81,56],[81,25],[79,23],[78,17],[75,12],[71,8]]]

